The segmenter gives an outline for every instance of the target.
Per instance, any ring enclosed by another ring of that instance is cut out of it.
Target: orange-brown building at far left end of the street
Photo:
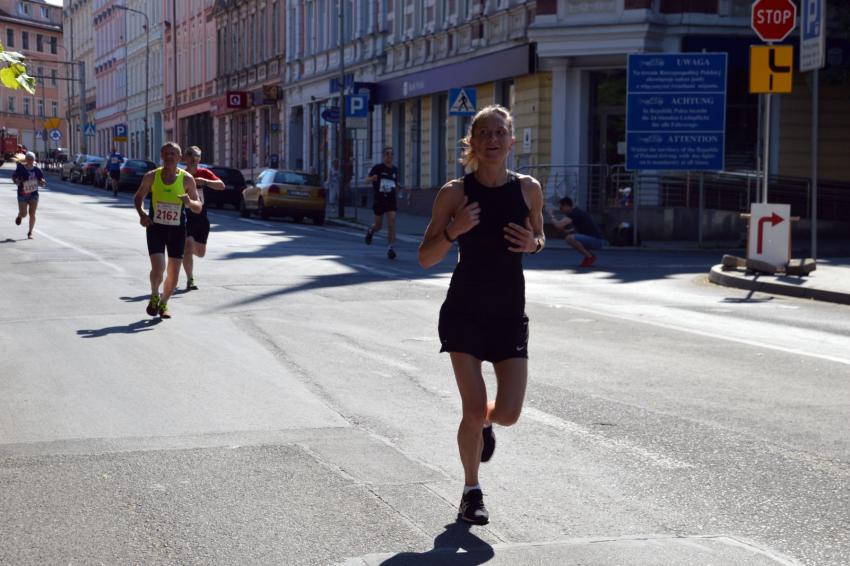
[[[63,147],[63,140],[68,139],[68,127],[59,108],[67,88],[61,80],[66,69],[59,63],[61,9],[43,0],[0,0],[0,30],[4,48],[25,55],[29,74],[37,77],[34,95],[23,89],[0,89],[2,136],[15,136],[19,144],[39,155]],[[60,122],[45,124],[50,118],[60,118]],[[59,132],[58,140],[51,138],[48,125],[50,131]]]

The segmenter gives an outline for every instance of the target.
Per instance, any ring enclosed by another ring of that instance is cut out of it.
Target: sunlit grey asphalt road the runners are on
[[[847,307],[716,287],[718,253],[529,257],[526,409],[469,529],[453,258],[212,211],[160,321],[130,195],[51,178],[28,241],[9,174],[2,564],[850,564]]]

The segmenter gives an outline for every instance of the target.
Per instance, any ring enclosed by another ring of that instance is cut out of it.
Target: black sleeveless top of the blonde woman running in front
[[[519,178],[508,173],[501,187],[485,187],[474,174],[463,178],[469,204],[481,207],[480,222],[458,238],[459,259],[452,274],[444,308],[450,312],[495,317],[525,313],[523,254],[508,250],[504,228],[525,225],[528,206]]]

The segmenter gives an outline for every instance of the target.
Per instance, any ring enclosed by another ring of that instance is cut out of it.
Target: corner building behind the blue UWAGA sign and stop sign
[[[751,0],[538,1],[529,34],[537,44],[540,68],[552,77],[550,162],[568,167],[594,164],[606,170],[623,167],[630,53],[722,52],[728,54],[726,170],[758,168],[759,124],[769,119],[771,175],[807,176],[812,78],[796,73],[794,93],[774,96],[771,115],[760,116],[759,97],[749,93],[749,47],[762,43],[750,27],[751,8]],[[797,33],[788,41],[796,47]],[[830,51],[837,50],[837,61],[828,61],[828,69],[847,68],[848,45],[833,42]],[[822,135],[844,140],[841,145],[822,146],[822,178],[850,180],[850,167],[838,149],[850,143],[846,129],[850,107],[838,104],[842,97],[846,100],[846,79],[823,82],[821,96],[826,102]],[[614,195],[600,194],[600,188],[578,183],[580,202],[596,210],[609,206]],[[643,191],[641,204],[663,205],[660,187]]]

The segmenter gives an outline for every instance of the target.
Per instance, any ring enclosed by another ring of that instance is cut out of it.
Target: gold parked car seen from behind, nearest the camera
[[[325,223],[325,189],[319,176],[303,171],[266,169],[242,192],[239,213],[243,217],[256,212],[260,218],[271,215],[291,216],[296,222],[305,216],[314,224]]]

